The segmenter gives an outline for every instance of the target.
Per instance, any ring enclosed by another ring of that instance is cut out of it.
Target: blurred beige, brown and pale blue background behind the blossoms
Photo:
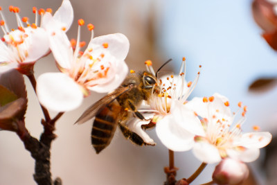
[[[33,6],[52,8],[55,12],[61,3],[62,0],[2,0],[0,6],[7,24],[16,28],[15,15],[8,11],[8,6],[19,6],[21,17],[34,21]],[[276,134],[277,89],[249,91],[252,82],[276,76],[277,72],[277,53],[261,37],[262,29],[253,19],[251,0],[71,0],[71,3],[74,22],[68,32],[69,38],[76,38],[77,21],[82,18],[86,24],[95,26],[95,36],[119,32],[129,38],[126,59],[129,69],[145,69],[145,60],[152,60],[154,69],[158,69],[172,58],[173,62],[165,70],[177,72],[181,59],[186,57],[187,80],[194,80],[202,64],[199,82],[190,98],[218,92],[229,98],[234,111],[242,101],[249,110],[242,126],[244,131],[260,125],[262,131]],[[82,28],[81,40],[88,43],[89,39],[89,31]],[[35,64],[36,77],[48,71],[57,71],[52,55]],[[26,86],[26,127],[30,134],[39,138],[43,116],[27,78]],[[51,149],[53,177],[61,177],[66,185],[163,184],[168,150],[154,130],[148,133],[156,141],[155,147],[134,146],[117,130],[110,146],[96,155],[91,146],[91,123],[73,125],[80,114],[102,96],[104,94],[92,92],[81,107],[64,114],[57,122],[55,133],[58,137]],[[269,184],[267,171],[260,168],[264,158],[262,150],[260,159],[249,164],[256,184]],[[177,152],[175,164],[179,168],[177,179],[181,179],[189,177],[201,162],[191,152]],[[208,165],[193,184],[211,181],[214,167]],[[0,184],[35,185],[33,172],[34,160],[18,136],[1,131]]]

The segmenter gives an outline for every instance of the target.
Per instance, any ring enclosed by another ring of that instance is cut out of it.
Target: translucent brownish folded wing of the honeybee
[[[118,89],[111,92],[111,94],[107,94],[107,96],[104,96],[96,103],[91,105],[87,110],[85,110],[84,113],[80,116],[80,118],[78,118],[78,120],[75,123],[82,124],[88,121],[89,119],[93,118],[98,113],[98,110],[100,109],[100,107],[102,107],[103,105],[109,105],[109,103],[115,100],[118,96],[125,94],[130,89],[131,87],[129,86],[119,87]]]

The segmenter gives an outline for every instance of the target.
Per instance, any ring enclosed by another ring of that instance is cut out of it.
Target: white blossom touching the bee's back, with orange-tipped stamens
[[[37,97],[46,108],[65,112],[77,108],[89,90],[100,93],[118,87],[127,75],[124,60],[129,51],[129,41],[125,35],[116,33],[93,38],[84,53],[80,52],[80,26],[75,51],[64,30],[60,29],[51,14],[42,19],[50,38],[50,48],[62,73],[44,73],[37,79]]]

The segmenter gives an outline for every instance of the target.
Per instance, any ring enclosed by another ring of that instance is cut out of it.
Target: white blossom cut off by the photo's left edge
[[[68,16],[69,14],[67,13],[70,12],[69,4],[68,0],[64,0],[62,6],[54,15],[57,21],[64,21],[63,24],[66,27],[70,26],[69,20],[71,19],[71,16]],[[48,10],[50,11],[50,9]],[[18,7],[10,6],[10,11],[15,13],[18,28],[12,30],[8,28],[0,8],[2,18],[0,26],[4,34],[0,40],[0,73],[10,69],[17,69],[21,73],[28,74],[33,71],[33,64],[48,53],[48,37],[44,28],[39,27],[37,24],[36,8],[33,9],[36,15],[34,24],[28,22],[28,17],[21,19]],[[66,21],[61,19],[61,15],[65,12],[67,13],[65,15]],[[39,14],[43,16],[43,11],[41,10]]]

